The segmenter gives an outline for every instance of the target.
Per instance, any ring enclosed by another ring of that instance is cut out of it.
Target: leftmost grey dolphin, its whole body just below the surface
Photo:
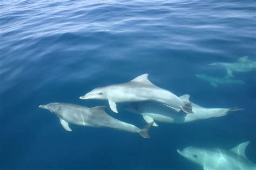
[[[150,138],[148,131],[153,124],[147,124],[145,128],[139,129],[134,125],[111,117],[105,112],[106,106],[89,108],[68,103],[50,103],[39,107],[56,114],[66,131],[72,131],[69,127],[69,123],[71,123],[91,127],[109,127],[116,130],[139,133],[143,138]]]

